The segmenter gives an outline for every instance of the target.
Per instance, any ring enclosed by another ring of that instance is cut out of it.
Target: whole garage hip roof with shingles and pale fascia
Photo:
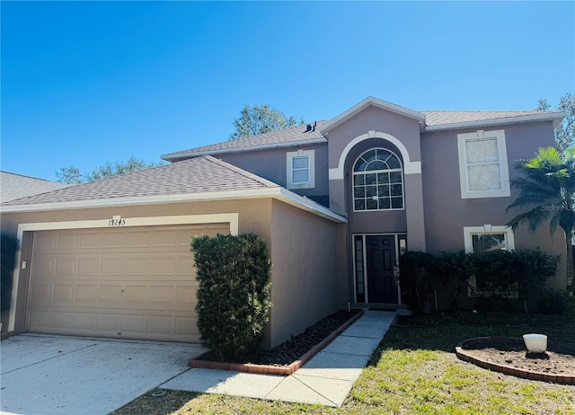
[[[346,222],[345,217],[311,199],[209,155],[10,200],[2,203],[0,210],[13,213],[265,197]]]

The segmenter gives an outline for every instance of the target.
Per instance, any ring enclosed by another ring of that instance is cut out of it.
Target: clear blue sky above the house
[[[246,103],[533,110],[575,91],[573,2],[5,2],[1,169],[56,180],[225,141]]]

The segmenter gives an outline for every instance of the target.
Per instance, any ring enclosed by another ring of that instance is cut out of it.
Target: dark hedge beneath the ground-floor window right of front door
[[[441,256],[406,252],[400,257],[402,298],[420,312],[434,287],[442,286],[452,309],[459,307],[461,294],[467,290],[480,309],[500,305],[518,309],[555,276],[559,260],[540,250],[443,252]],[[475,285],[470,284],[472,278]]]

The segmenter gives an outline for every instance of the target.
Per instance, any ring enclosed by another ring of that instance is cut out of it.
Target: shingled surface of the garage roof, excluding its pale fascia
[[[272,181],[207,155],[11,200],[3,206],[277,187],[279,185]]]

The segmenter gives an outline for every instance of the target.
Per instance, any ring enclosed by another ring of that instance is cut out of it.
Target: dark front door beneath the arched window
[[[394,236],[366,236],[367,301],[397,304]]]

